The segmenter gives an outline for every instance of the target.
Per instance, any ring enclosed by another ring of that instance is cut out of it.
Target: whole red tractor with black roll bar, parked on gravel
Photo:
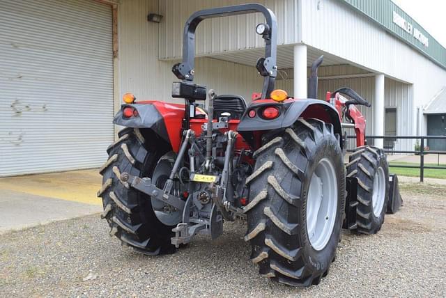
[[[256,26],[266,42],[256,63],[263,89],[249,105],[192,83],[197,25],[243,13],[266,19]],[[275,90],[276,54],[276,18],[260,4],[200,10],[187,20],[183,62],[172,69],[180,79],[172,96],[185,104],[136,102],[127,93],[114,118],[127,128],[107,149],[98,191],[110,235],[155,256],[174,253],[197,233],[215,239],[224,221],[246,219],[245,240],[260,274],[308,286],[328,273],[341,228],[380,230],[390,189],[387,160],[383,150],[365,145],[365,120],[355,107],[370,104],[349,88],[317,100],[322,57],[312,65],[309,99]],[[207,97],[204,108],[199,102]],[[342,127],[357,135],[346,165]]]

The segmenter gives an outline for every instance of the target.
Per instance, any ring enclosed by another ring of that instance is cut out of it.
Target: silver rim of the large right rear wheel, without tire
[[[321,251],[330,240],[337,213],[337,175],[330,159],[323,158],[309,182],[307,233],[313,249]]]

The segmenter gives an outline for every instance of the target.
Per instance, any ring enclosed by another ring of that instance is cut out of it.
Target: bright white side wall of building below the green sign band
[[[446,84],[446,70],[368,17],[336,0],[300,0],[302,41],[386,77],[414,84],[415,107]],[[415,119],[413,109],[412,117]],[[416,123],[411,121],[411,134]]]

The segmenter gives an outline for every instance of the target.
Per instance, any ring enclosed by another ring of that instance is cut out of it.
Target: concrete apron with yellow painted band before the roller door
[[[0,234],[102,212],[97,169],[0,179]]]

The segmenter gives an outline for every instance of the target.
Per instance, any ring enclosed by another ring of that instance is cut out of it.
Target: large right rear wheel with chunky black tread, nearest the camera
[[[259,265],[260,274],[279,283],[318,284],[334,261],[344,219],[345,168],[333,126],[300,118],[295,126],[266,140],[254,158],[245,207],[245,240],[252,246],[252,262]],[[331,168],[329,175],[323,174],[324,166]],[[309,212],[314,198],[319,200],[318,209]],[[328,204],[332,208],[323,209]],[[314,214],[315,225],[308,222]],[[323,227],[322,232],[309,232],[315,226]]]

